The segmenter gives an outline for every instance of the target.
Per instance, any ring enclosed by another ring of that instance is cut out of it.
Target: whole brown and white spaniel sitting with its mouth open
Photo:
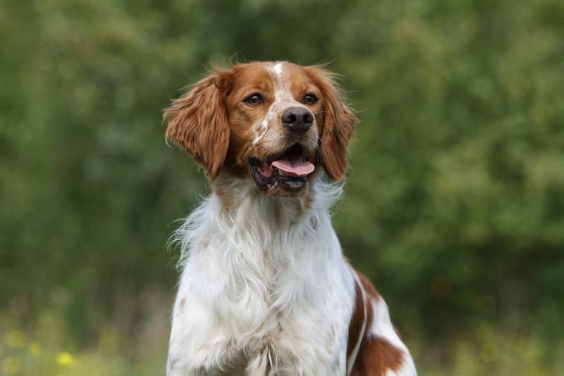
[[[416,375],[329,210],[357,118],[318,66],[214,71],[166,109],[212,194],[172,241],[183,272],[167,375]]]

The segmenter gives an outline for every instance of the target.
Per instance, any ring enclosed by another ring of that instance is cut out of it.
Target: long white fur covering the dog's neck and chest
[[[355,282],[328,212],[340,188],[314,190],[307,208],[233,181],[234,210],[213,193],[185,220],[169,376],[345,374]]]

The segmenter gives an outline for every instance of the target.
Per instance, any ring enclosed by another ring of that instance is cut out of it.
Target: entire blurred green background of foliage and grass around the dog
[[[161,110],[209,63],[330,62],[336,229],[422,375],[564,368],[564,2],[5,0],[0,374],[164,373],[206,182]]]

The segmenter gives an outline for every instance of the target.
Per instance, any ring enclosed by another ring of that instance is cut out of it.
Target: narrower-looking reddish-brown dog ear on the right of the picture
[[[324,95],[324,124],[321,127],[321,165],[335,181],[348,169],[348,145],[353,139],[357,117],[343,103],[333,74],[319,67],[309,67]]]

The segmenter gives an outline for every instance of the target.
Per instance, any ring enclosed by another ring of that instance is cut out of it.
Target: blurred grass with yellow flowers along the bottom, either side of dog
[[[159,320],[168,317],[151,322]],[[18,327],[16,318],[4,312],[0,314],[0,375],[163,375],[168,330],[152,329],[132,339],[115,327],[105,327],[89,345],[78,346],[54,313]],[[564,369],[564,342],[553,346],[534,335],[502,332],[488,325],[443,346],[407,342],[419,375],[548,376]]]

